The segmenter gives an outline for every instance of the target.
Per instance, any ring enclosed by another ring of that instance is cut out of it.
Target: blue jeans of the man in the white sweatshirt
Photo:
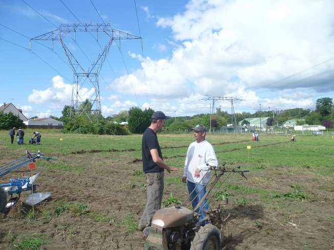
[[[206,189],[207,189],[206,187],[203,188],[204,187],[203,184],[199,184],[196,187],[197,184],[198,183],[193,183],[193,182],[187,181],[187,187],[188,187],[189,193],[191,193],[196,188],[195,191],[190,195],[190,201],[192,201],[192,208],[193,209],[197,206],[199,201],[201,201],[201,199],[203,198],[204,194],[206,193]],[[202,190],[202,188],[203,188],[203,190]],[[197,197],[195,198],[196,195],[197,195]],[[206,211],[206,210],[209,210],[209,204],[207,204],[207,199],[205,199],[204,202],[201,204],[201,206],[195,211],[196,213],[199,213],[199,215],[198,215],[199,220],[204,219],[206,217],[205,213],[204,213],[204,211]]]

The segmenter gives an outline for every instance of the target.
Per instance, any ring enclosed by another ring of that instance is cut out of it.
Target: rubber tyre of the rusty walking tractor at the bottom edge
[[[199,228],[190,250],[219,250],[220,249],[220,233],[217,227],[212,224],[206,224]]]

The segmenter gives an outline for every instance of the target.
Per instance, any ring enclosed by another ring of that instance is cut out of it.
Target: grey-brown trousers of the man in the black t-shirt
[[[147,203],[144,213],[139,220],[139,226],[150,227],[155,212],[161,209],[164,192],[164,172],[146,173]]]

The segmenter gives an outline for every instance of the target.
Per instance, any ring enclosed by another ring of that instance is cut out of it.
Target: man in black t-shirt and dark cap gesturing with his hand
[[[163,160],[161,148],[156,132],[164,126],[169,119],[161,111],[156,111],[151,117],[151,125],[146,129],[142,139],[143,171],[146,173],[147,203],[144,213],[139,221],[138,230],[147,235],[151,226],[154,213],[161,209],[162,195],[164,191],[164,170],[179,170],[166,165]]]

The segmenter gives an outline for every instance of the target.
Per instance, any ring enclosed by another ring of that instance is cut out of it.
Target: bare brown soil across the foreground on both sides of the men
[[[141,161],[130,156],[119,157],[118,154],[122,153],[80,151],[67,154],[45,166],[37,164],[36,171],[41,171],[36,180],[40,185],[38,191],[51,191],[52,195],[46,202],[34,207],[35,219],[28,218],[32,207],[21,202],[0,215],[0,248],[15,249],[9,233],[16,238],[37,233],[46,235],[50,242],[41,249],[143,249],[142,232],[133,231],[130,220],[132,218],[137,223],[144,210],[145,176],[131,174],[142,169]],[[72,166],[72,169],[53,167],[53,164],[59,162]],[[24,166],[8,174],[2,178],[2,183],[8,178],[19,177],[23,171],[29,173],[30,170],[26,168]],[[250,172],[248,181],[241,177],[233,181],[256,189],[276,189],[282,192],[286,191],[290,183],[301,183],[308,193],[312,193],[313,185],[317,185],[311,181],[314,178],[311,171],[299,175],[285,174],[284,168],[275,171],[280,174],[273,180],[264,180],[259,178],[261,173],[255,176]],[[181,175],[181,171],[172,172],[166,174],[166,179],[181,178]],[[329,185],[330,182],[332,185],[332,180],[327,180]],[[186,186],[177,185],[165,185],[165,197],[171,191],[176,197],[186,197]],[[247,194],[248,204],[230,202],[227,212],[233,215],[229,221],[232,238],[227,242],[226,249],[333,248],[333,190],[327,187],[324,187],[323,192],[315,192],[314,197],[317,198],[314,200],[287,198],[264,202],[254,193]],[[20,201],[24,201],[26,196],[28,194],[23,194]],[[283,205],[279,203],[290,208],[287,214],[286,210],[280,210]],[[76,207],[69,204],[86,207],[75,211]],[[59,216],[55,215],[57,208],[64,208]]]

